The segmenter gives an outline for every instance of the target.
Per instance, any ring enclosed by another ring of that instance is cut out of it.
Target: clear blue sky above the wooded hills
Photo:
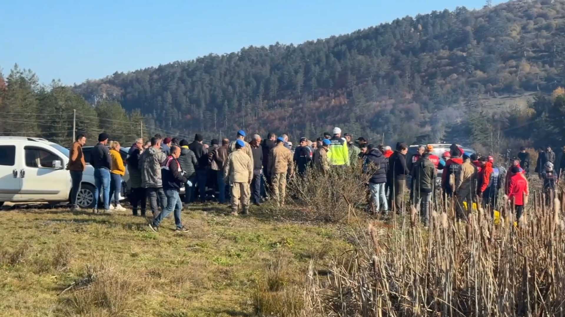
[[[493,4],[502,1],[494,0]],[[31,68],[41,82],[80,83],[116,71],[301,43],[485,0],[5,1],[0,67]]]

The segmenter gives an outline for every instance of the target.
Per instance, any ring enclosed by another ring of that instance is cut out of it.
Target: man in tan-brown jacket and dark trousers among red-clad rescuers
[[[475,184],[477,182],[477,166],[471,162],[471,158],[463,155],[463,164],[458,177],[455,178],[455,193],[457,195],[457,218],[466,219],[466,215],[473,207],[473,195],[475,195]],[[463,201],[467,201],[467,213],[464,211]]]

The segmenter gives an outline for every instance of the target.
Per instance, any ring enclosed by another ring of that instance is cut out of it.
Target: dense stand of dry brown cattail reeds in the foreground
[[[387,232],[371,224],[371,239],[355,239],[367,241],[358,246],[365,251],[336,259],[332,278],[316,280],[310,297],[318,308],[306,315],[562,315],[565,220],[557,199],[562,195],[555,195],[547,213],[543,197],[533,195],[519,227],[512,209],[494,224],[478,206],[466,224],[458,225],[453,202],[436,205],[432,218],[438,225],[429,230],[412,224],[415,209],[409,227]],[[503,202],[509,205],[507,197]],[[376,252],[379,244],[383,247]]]

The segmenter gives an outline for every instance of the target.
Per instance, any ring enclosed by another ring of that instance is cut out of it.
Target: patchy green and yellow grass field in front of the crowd
[[[190,232],[174,232],[171,216],[155,234],[127,212],[5,207],[0,315],[251,316],[258,289],[302,287],[311,259],[351,248],[345,224],[228,211],[193,206],[182,214]]]

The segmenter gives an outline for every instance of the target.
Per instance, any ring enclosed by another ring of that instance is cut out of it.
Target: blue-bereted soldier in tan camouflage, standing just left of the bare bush
[[[271,175],[271,186],[273,197],[277,206],[284,205],[286,195],[286,173],[292,176],[294,164],[292,153],[285,147],[285,140],[277,138],[277,145],[269,153],[269,174]]]

